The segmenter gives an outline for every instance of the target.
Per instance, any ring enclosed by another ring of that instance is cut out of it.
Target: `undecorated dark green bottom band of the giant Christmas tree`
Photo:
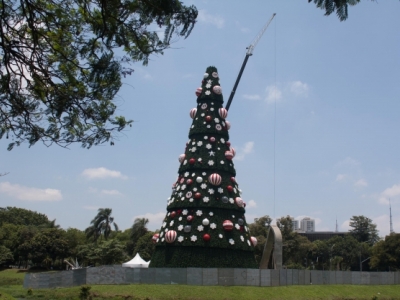
[[[156,247],[150,268],[258,268],[254,252],[223,248]]]

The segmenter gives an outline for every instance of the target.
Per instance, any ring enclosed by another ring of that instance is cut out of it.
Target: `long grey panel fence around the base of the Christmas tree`
[[[83,284],[187,284],[187,285],[322,285],[400,284],[400,272],[350,272],[319,270],[259,270],[217,268],[123,268],[101,266],[73,271],[28,273],[24,288],[45,289]]]

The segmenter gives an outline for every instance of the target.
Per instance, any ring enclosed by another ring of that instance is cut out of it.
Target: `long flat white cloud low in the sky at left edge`
[[[11,184],[9,182],[0,183],[0,193],[25,201],[51,202],[62,200],[60,190],[31,188],[19,184]]]

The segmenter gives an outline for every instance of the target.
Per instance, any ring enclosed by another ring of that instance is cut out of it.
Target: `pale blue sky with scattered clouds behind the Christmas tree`
[[[248,222],[263,215],[316,219],[348,230],[365,215],[380,235],[400,232],[399,1],[362,1],[340,22],[308,1],[184,1],[199,10],[188,39],[174,39],[124,79],[118,114],[133,119],[115,146],[68,150],[0,140],[0,207],[45,213],[85,229],[98,208],[121,229],[136,217],[157,229],[184,151],[195,90],[218,68],[225,102],[250,45],[229,110],[237,182]],[[275,154],[274,154],[275,153]]]

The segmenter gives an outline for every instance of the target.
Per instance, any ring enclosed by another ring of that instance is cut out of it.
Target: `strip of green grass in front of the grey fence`
[[[0,299],[79,299],[80,287],[32,290],[22,287],[25,273],[0,271]],[[91,299],[399,299],[400,285],[315,285],[281,287],[223,287],[190,285],[93,285]]]

